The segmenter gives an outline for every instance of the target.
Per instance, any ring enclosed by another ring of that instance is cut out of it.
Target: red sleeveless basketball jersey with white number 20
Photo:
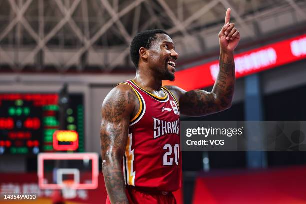
[[[133,80],[140,108],[131,119],[125,155],[124,179],[127,185],[176,191],[181,187],[179,104],[175,96],[162,87],[164,97],[157,97]]]

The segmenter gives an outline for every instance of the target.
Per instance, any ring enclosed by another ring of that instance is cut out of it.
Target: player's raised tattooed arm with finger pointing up
[[[180,113],[188,116],[204,116],[222,111],[231,106],[235,86],[235,64],[233,51],[239,43],[240,34],[234,23],[230,23],[230,9],[225,15],[225,24],[219,32],[220,70],[211,92],[185,90],[168,86],[179,98]],[[192,79],[190,79],[192,80]]]

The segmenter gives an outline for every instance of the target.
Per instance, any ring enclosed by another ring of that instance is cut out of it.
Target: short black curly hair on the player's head
[[[151,43],[156,38],[156,34],[166,34],[169,36],[169,34],[162,30],[162,29],[154,29],[154,30],[146,30],[139,32],[132,40],[130,45],[130,56],[131,60],[136,66],[136,69],[138,69],[138,62],[139,62],[139,49],[141,47],[144,47],[146,49],[151,48]]]

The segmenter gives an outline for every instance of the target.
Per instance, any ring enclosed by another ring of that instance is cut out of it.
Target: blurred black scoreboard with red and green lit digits
[[[54,152],[53,133],[59,128],[59,96],[56,93],[0,94],[0,155]],[[66,130],[78,133],[84,152],[82,94],[69,94]]]

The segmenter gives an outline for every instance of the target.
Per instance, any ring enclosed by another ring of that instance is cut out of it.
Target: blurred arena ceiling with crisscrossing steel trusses
[[[188,61],[217,49],[227,7],[245,40],[306,20],[305,0],[0,0],[0,71],[130,72],[132,37],[154,28]]]

